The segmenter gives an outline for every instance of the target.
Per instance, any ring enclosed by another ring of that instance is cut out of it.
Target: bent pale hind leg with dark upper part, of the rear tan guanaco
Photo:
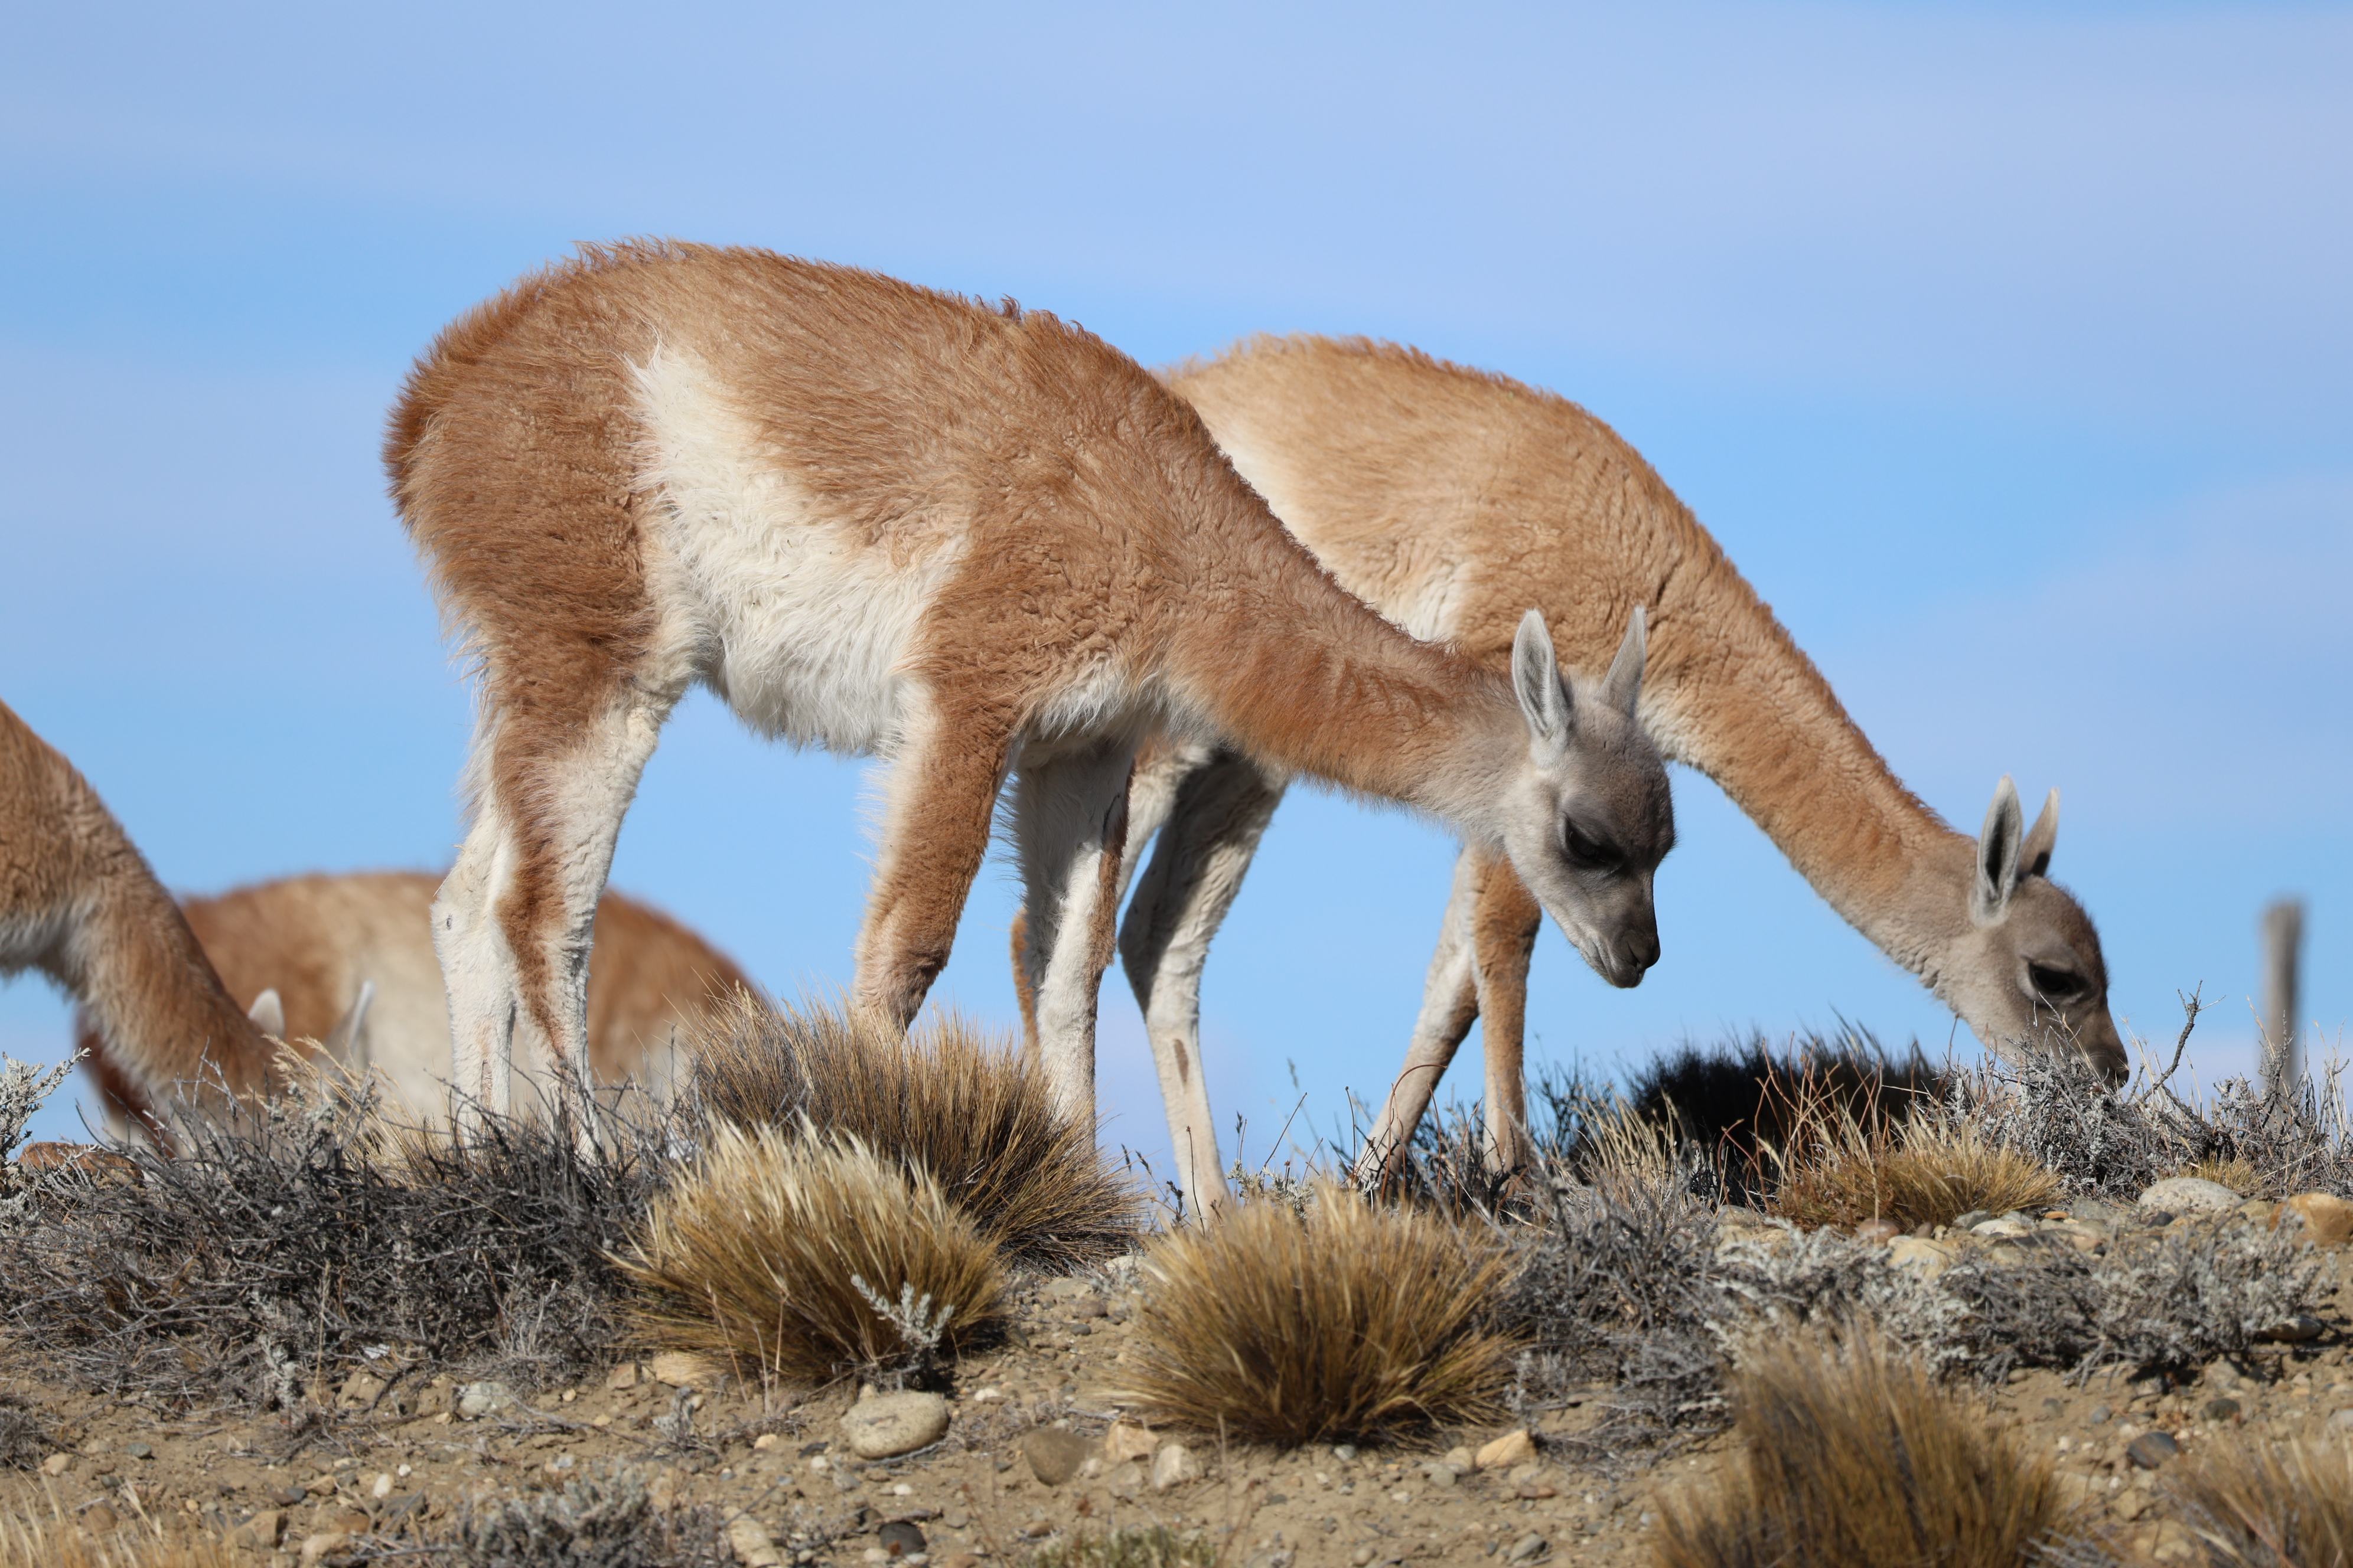
[[[1282,788],[1280,778],[1226,750],[1184,773],[1120,929],[1127,983],[1144,1009],[1160,1072],[1176,1185],[1205,1218],[1226,1201],[1226,1168],[1200,1070],[1200,971],[1242,891],[1259,835],[1282,804]]]

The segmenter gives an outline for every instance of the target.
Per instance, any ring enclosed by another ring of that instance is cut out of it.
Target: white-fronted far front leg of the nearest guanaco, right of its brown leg
[[[1120,914],[1132,766],[1127,745],[1106,745],[1024,764],[1014,783],[1038,1063],[1056,1107],[1087,1126],[1094,1126],[1094,1011]]]

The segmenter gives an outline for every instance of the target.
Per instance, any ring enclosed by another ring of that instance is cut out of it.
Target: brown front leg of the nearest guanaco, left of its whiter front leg
[[[948,966],[1012,743],[1005,724],[927,719],[911,731],[892,769],[852,990],[852,1006],[889,1030],[915,1020]]]

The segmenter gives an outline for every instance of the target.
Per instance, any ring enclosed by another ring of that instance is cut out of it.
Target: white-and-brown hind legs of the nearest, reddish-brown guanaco
[[[572,722],[494,717],[475,741],[475,813],[433,898],[449,994],[449,1084],[513,1114],[515,1053],[588,1084],[588,945],[621,818],[680,684],[624,686]]]

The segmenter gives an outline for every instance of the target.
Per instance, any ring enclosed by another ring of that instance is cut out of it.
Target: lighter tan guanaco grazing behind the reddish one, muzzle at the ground
[[[1252,339],[1179,367],[1169,386],[1344,588],[1424,635],[1452,635],[1492,670],[1508,665],[1527,604],[1546,611],[1562,668],[1588,672],[1640,607],[1640,712],[1671,759],[1720,783],[1981,1037],[2049,1034],[2122,1072],[2099,936],[2075,900],[2028,853],[2009,914],[1972,926],[1977,844],[1894,778],[1689,508],[1605,423],[1565,397],[1365,339]],[[1508,865],[1482,872],[1475,1006],[1459,1009],[1464,1030],[1487,1013],[1487,1051],[1504,1058],[1489,1086],[1520,1077],[1525,907],[1489,907],[1511,879]],[[2021,987],[2042,957],[2064,957],[2087,994],[2035,1006]],[[1459,1039],[1409,1060],[1395,1095],[1419,1084],[1426,1100]]]

